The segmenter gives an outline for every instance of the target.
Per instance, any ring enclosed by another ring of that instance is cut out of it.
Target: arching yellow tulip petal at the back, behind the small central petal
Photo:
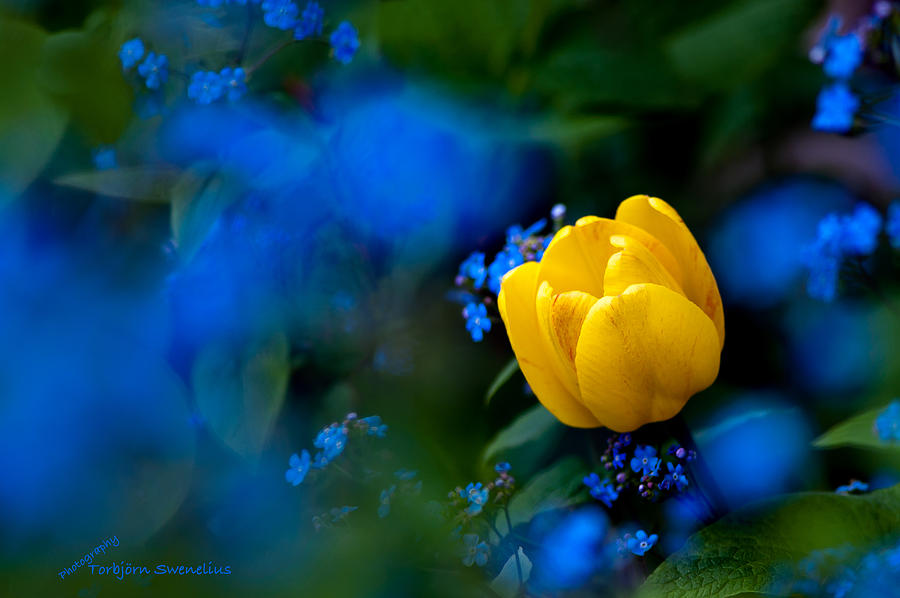
[[[584,291],[602,297],[603,278],[609,258],[619,248],[609,239],[613,235],[627,235],[638,240],[672,274],[681,279],[681,269],[665,245],[626,222],[586,216],[575,226],[562,228],[544,252],[540,279],[546,280],[557,293]]]

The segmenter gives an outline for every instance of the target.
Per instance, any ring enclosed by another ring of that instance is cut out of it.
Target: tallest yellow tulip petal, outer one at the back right
[[[633,224],[660,241],[678,260],[683,272],[681,288],[688,299],[712,318],[719,334],[719,347],[725,344],[725,316],[719,287],[697,240],[675,209],[657,197],[635,195],[616,210],[616,220]]]

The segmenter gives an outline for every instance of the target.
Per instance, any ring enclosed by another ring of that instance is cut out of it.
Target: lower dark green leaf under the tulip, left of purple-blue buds
[[[583,502],[586,488],[583,478],[587,468],[577,457],[560,459],[538,473],[509,502],[509,518],[513,527],[531,521],[535,515]],[[496,521],[500,533],[509,529],[501,514]]]

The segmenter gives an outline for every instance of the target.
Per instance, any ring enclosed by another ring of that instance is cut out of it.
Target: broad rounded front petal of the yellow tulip
[[[719,371],[712,320],[680,293],[636,284],[597,301],[578,339],[583,403],[617,432],[669,419]]]

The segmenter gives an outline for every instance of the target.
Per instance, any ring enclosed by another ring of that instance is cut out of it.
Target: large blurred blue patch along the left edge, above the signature
[[[194,436],[165,361],[167,307],[99,256],[0,216],[0,549],[41,535],[140,543],[179,506]]]

